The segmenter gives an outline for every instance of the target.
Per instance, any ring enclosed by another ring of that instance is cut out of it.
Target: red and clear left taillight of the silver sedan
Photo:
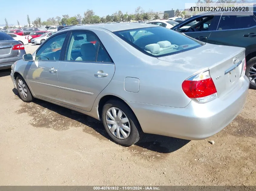
[[[183,81],[182,90],[191,99],[205,103],[217,98],[217,90],[209,71],[194,75]]]

